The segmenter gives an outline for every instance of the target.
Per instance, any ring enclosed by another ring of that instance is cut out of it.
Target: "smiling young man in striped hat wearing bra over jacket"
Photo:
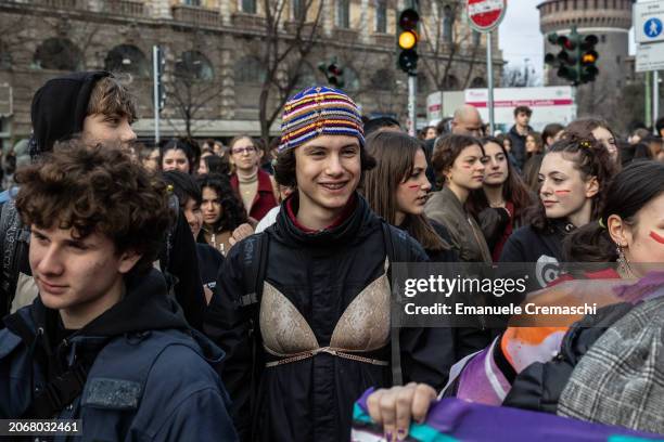
[[[357,192],[375,161],[353,100],[308,88],[285,103],[281,128],[274,174],[294,192],[274,224],[228,253],[205,332],[226,351],[241,440],[344,441],[367,388],[399,373],[446,382],[449,329],[391,324],[393,257],[427,257]]]

